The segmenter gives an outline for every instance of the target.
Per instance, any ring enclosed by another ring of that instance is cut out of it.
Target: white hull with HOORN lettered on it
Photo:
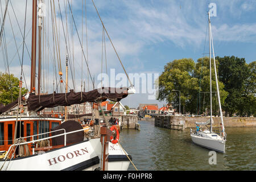
[[[123,158],[125,153],[121,148],[115,146],[115,149],[109,150],[108,170],[126,171],[130,161]],[[98,138],[24,158],[0,160],[0,167],[3,171],[94,171],[100,169],[100,158]]]

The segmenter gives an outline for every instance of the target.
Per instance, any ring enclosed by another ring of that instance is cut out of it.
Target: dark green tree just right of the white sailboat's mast
[[[219,61],[219,77],[225,85],[228,97],[225,100],[225,114],[232,116],[234,113],[242,113],[245,102],[245,82],[250,75],[249,67],[244,58],[235,56],[216,57]],[[242,109],[242,110],[241,110]]]

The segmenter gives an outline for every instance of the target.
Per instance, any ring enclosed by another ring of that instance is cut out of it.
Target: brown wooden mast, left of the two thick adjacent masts
[[[37,0],[32,0],[32,48],[31,48],[31,76],[30,91],[34,92],[35,88],[35,72],[36,72],[36,19],[37,19]]]

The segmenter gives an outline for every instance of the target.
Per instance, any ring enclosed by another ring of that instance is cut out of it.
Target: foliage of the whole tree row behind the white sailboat
[[[226,116],[256,115],[256,61],[246,64],[244,58],[235,56],[216,57],[218,87],[222,109]],[[195,63],[192,59],[180,59],[167,63],[159,77],[159,101],[167,101],[183,113],[209,113],[209,57]],[[212,92],[216,92],[216,80],[212,60]],[[202,93],[204,92],[204,93]],[[219,114],[217,94],[212,94],[213,114]]]

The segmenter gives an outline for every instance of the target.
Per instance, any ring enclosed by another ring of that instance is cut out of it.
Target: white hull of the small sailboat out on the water
[[[216,134],[214,134],[215,136]],[[193,143],[214,150],[217,152],[225,153],[225,140],[219,140],[214,138],[201,137],[201,135],[191,134]]]

